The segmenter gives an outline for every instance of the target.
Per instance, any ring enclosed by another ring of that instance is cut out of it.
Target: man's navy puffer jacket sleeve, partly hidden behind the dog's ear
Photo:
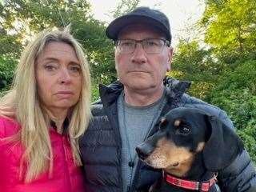
[[[220,110],[216,106],[211,106],[206,102],[202,102],[197,98],[190,97],[185,94],[183,99],[183,106],[195,107],[201,110],[206,110],[211,114],[214,114],[227,126],[234,128],[230,118],[226,115],[226,112]],[[252,192],[256,191],[256,170],[253,162],[250,159],[250,155],[246,150],[243,150],[234,162],[227,166],[224,170],[218,173],[218,186],[223,192]]]

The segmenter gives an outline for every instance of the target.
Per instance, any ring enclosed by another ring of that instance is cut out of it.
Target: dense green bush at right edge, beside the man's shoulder
[[[256,61],[226,70],[207,99],[226,110],[256,162]]]

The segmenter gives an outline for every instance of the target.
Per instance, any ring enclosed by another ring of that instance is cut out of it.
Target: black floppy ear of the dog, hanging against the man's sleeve
[[[202,154],[206,169],[215,172],[229,166],[242,152],[243,144],[234,130],[218,118],[206,115],[206,124],[211,134]]]

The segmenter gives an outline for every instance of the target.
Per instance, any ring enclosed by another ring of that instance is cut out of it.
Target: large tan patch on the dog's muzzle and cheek
[[[176,146],[174,142],[162,138],[145,162],[154,168],[164,169],[170,174],[182,177],[190,170],[194,154],[186,147]],[[174,166],[177,162],[178,166]]]

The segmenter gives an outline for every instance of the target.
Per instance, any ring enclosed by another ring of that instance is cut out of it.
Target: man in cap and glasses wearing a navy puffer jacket
[[[189,82],[166,77],[173,50],[165,14],[147,7],[116,18],[106,28],[115,42],[118,82],[100,86],[101,101],[80,140],[87,191],[148,191],[161,177],[138,160],[135,146],[158,129],[158,118],[178,106],[206,110],[233,127],[226,113],[184,91]],[[218,173],[222,191],[256,191],[255,171],[246,150]]]

